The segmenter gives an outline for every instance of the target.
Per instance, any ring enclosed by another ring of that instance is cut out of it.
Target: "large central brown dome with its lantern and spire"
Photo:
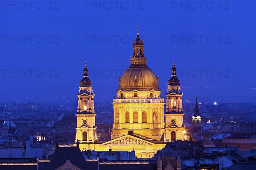
[[[130,58],[131,65],[119,78],[117,91],[160,91],[158,77],[146,65],[147,58],[143,54],[143,41],[140,40],[139,29],[137,29],[137,39],[133,43],[133,55]]]

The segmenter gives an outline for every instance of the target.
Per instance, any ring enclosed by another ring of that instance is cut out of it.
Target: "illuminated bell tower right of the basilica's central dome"
[[[182,95],[173,59],[172,76],[169,79],[166,92],[166,113],[164,114],[166,117],[166,141],[184,140]]]

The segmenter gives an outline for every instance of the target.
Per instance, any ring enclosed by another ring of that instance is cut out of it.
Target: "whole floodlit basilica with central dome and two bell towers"
[[[113,129],[111,140],[101,142],[96,135],[94,93],[85,63],[80,81],[77,110],[76,142],[81,150],[135,150],[138,158],[154,156],[166,142],[192,140],[183,125],[182,95],[180,80],[176,75],[173,60],[172,75],[168,81],[166,103],[160,96],[158,77],[146,65],[143,41],[139,30],[133,43],[131,65],[119,78],[113,99]],[[166,104],[166,112],[164,105]]]

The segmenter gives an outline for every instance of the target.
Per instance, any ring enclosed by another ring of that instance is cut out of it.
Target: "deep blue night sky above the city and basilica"
[[[111,103],[137,25],[163,95],[175,58],[184,100],[256,98],[255,1],[23,2],[1,1],[1,103],[73,104],[85,58],[95,102]]]

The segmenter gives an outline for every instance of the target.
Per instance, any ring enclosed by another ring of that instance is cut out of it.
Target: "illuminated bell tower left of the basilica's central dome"
[[[84,75],[80,81],[77,106],[76,142],[94,143],[96,140],[96,125],[94,111],[94,93],[92,82],[88,76],[86,61],[84,64]]]

